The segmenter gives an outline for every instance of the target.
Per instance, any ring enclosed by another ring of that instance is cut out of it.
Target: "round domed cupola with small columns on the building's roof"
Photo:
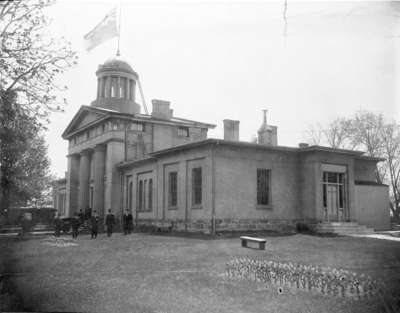
[[[97,71],[97,99],[93,106],[115,110],[121,113],[140,113],[135,102],[138,74],[129,63],[120,57],[113,57],[99,65]]]

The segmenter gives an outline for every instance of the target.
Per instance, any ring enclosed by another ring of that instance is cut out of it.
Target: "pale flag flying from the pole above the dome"
[[[103,20],[83,38],[87,51],[92,50],[101,43],[118,36],[117,8],[112,9]]]

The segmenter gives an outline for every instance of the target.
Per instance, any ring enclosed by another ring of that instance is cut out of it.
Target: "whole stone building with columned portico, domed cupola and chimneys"
[[[296,222],[353,222],[389,228],[388,187],[377,183],[379,158],[322,146],[278,145],[277,127],[260,118],[257,143],[239,141],[239,121],[215,125],[176,117],[152,100],[135,101],[138,74],[120,58],[97,72],[97,97],[82,106],[62,137],[68,171],[56,187],[63,216],[125,210],[136,224],[212,232],[276,229]]]

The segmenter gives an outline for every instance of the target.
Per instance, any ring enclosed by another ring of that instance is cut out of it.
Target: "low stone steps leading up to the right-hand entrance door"
[[[323,222],[317,224],[315,231],[320,234],[337,235],[370,235],[375,233],[373,228],[355,222]]]

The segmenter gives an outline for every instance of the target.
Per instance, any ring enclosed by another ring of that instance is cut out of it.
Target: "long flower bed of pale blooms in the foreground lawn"
[[[250,258],[229,261],[226,275],[352,299],[374,297],[382,287],[369,276],[347,270]]]

